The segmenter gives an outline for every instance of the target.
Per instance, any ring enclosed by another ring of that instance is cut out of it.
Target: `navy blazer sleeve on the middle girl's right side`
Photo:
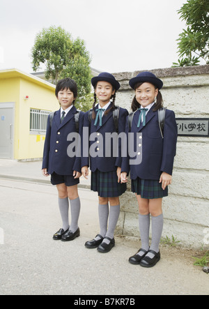
[[[125,123],[128,112],[124,108],[120,108],[119,116],[118,116],[118,157],[116,158],[115,166],[121,167],[122,165],[122,147],[125,145]]]

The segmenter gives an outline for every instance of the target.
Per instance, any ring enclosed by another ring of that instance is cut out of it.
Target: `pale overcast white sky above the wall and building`
[[[32,73],[36,35],[61,26],[85,42],[91,67],[109,73],[178,61],[179,10],[187,0],[0,0],[0,70]],[[42,66],[40,71],[44,68]]]

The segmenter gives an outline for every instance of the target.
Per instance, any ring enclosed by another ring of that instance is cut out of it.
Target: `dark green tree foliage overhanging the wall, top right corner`
[[[187,29],[183,29],[178,38],[180,59],[173,66],[196,66],[200,59],[209,63],[209,1],[188,0],[178,10],[180,19],[185,20]]]

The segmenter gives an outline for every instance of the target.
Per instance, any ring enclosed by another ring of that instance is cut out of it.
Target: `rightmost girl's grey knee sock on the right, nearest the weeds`
[[[157,217],[152,216],[152,242],[150,246],[150,250],[159,252],[160,239],[162,236],[162,228],[163,228],[163,214]],[[153,253],[148,253],[148,257],[154,257]]]

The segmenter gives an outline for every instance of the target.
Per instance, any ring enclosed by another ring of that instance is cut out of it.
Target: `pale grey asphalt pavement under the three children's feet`
[[[151,269],[128,258],[140,241],[116,236],[106,254],[84,243],[98,234],[98,196],[81,178],[81,236],[54,241],[61,227],[56,187],[41,173],[41,162],[0,160],[1,295],[208,295],[209,275],[193,265],[189,251],[161,246]]]

